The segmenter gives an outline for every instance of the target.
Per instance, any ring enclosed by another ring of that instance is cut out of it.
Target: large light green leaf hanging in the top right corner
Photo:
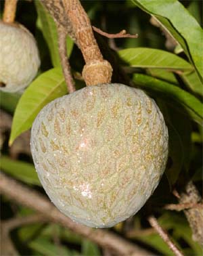
[[[185,54],[203,78],[203,32],[196,19],[177,0],[132,0],[156,18],[179,42]]]

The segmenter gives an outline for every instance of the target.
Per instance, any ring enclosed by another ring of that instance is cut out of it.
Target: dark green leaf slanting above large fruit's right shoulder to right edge
[[[177,110],[181,111],[181,108],[183,108],[183,114],[187,112],[191,119],[203,125],[203,104],[194,95],[191,95],[171,83],[160,81],[159,79],[149,77],[145,74],[134,74],[133,81],[142,89],[156,93],[157,97],[175,106]]]

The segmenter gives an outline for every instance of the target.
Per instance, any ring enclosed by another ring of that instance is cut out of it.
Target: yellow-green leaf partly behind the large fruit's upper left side
[[[48,70],[32,81],[20,98],[14,113],[9,145],[18,135],[30,129],[43,106],[66,93],[67,87],[60,68]]]

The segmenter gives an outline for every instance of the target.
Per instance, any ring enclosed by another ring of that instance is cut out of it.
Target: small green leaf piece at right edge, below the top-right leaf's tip
[[[203,83],[196,72],[183,73],[181,77],[192,91],[203,96]]]

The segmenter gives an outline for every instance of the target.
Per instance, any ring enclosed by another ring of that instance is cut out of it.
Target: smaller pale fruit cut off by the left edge
[[[0,82],[2,91],[24,89],[40,66],[35,38],[20,24],[0,22]]]

